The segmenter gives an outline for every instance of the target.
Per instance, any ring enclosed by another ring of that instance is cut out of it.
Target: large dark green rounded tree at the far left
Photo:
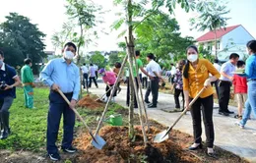
[[[10,13],[6,19],[0,25],[0,46],[5,52],[5,62],[14,67],[22,66],[24,59],[29,57],[33,62],[33,73],[38,74],[35,63],[46,57],[42,42],[45,34],[29,18],[17,13]]]

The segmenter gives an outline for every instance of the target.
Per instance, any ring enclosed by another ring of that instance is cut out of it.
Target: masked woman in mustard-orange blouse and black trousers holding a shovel
[[[206,130],[207,154],[216,157],[214,152],[214,89],[211,86],[212,81],[220,78],[220,73],[206,59],[198,58],[198,49],[196,46],[187,48],[187,63],[183,70],[183,91],[185,96],[185,107],[190,109],[193,121],[194,143],[189,147],[190,150],[202,148],[202,126],[201,126],[201,108]],[[212,75],[212,77],[209,76]],[[189,108],[189,102],[205,87],[205,90],[195,103]],[[201,107],[202,106],[202,107]]]

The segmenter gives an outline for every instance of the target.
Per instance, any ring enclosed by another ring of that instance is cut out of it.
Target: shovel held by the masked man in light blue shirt
[[[63,92],[60,89],[57,89],[57,91],[60,93],[60,95],[64,98],[64,100],[70,105],[69,100],[67,99],[67,97],[63,94]],[[100,137],[100,136],[94,136],[92,130],[87,126],[86,122],[83,120],[83,118],[80,116],[80,114],[78,113],[78,111],[75,108],[71,108],[75,114],[78,116],[78,118],[83,122],[83,124],[85,125],[85,127],[87,128],[87,130],[89,131],[90,136],[92,136],[93,141],[92,141],[92,145],[95,146],[97,149],[102,149],[102,147],[104,146],[104,144],[106,143],[105,140]]]

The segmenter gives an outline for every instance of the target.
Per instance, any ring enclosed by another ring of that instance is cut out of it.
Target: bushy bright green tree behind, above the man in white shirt
[[[188,45],[194,43],[192,37],[181,37],[178,30],[179,26],[175,19],[159,12],[135,28],[136,47],[141,49],[144,55],[149,52],[154,53],[158,61],[174,61],[184,53]],[[173,55],[170,56],[169,53]]]

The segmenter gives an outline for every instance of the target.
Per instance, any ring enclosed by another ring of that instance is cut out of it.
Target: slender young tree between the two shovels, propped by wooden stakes
[[[131,79],[132,75],[132,65],[133,61],[133,53],[134,53],[134,38],[133,38],[133,31],[136,27],[138,27],[141,23],[143,23],[148,18],[152,17],[156,13],[160,11],[161,7],[165,7],[168,9],[170,14],[173,14],[173,9],[175,8],[176,3],[181,4],[181,7],[184,8],[186,11],[189,11],[191,7],[193,7],[193,2],[188,0],[114,0],[115,4],[123,5],[124,13],[119,13],[120,19],[117,20],[113,24],[113,28],[118,29],[122,27],[122,24],[126,23],[128,25],[128,41],[127,41],[127,55],[129,56],[129,67],[130,67],[130,80],[132,81],[131,84],[131,93],[130,99],[134,99],[134,93],[132,91],[136,90],[136,85],[134,84],[134,80]],[[149,9],[148,6],[151,6]],[[119,35],[123,35],[126,33],[127,30],[123,30]],[[135,62],[136,64],[136,62]],[[138,94],[136,95],[138,96]],[[137,97],[136,97],[137,98]],[[138,98],[137,98],[138,99]],[[140,103],[139,100],[137,100]],[[134,137],[134,129],[133,129],[133,111],[134,111],[134,102],[130,101],[130,109],[129,109],[129,136],[132,138]],[[140,113],[140,112],[139,112]],[[141,121],[142,128],[144,125]],[[144,129],[143,129],[144,130]],[[146,141],[147,139],[144,138]]]

